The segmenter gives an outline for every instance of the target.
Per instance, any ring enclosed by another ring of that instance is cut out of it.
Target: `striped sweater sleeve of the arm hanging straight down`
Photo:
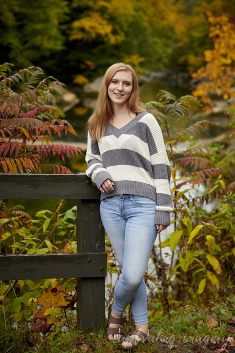
[[[152,114],[148,114],[147,120],[146,137],[156,189],[155,224],[170,225],[169,212],[173,211],[170,164],[159,124]]]

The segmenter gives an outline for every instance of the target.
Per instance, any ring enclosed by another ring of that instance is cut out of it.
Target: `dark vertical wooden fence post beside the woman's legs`
[[[104,253],[104,228],[98,200],[77,200],[77,251]],[[106,253],[105,253],[106,254]],[[106,263],[105,263],[106,274]],[[105,278],[77,279],[78,327],[105,325]]]

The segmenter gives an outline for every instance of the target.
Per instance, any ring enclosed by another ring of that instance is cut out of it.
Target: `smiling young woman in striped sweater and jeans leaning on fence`
[[[122,338],[122,347],[132,349],[151,337],[143,277],[156,233],[170,224],[173,208],[161,129],[140,106],[137,77],[129,65],[107,69],[87,140],[86,175],[101,191],[101,220],[122,269],[106,334],[109,340],[125,334],[122,313],[130,304],[136,329]]]

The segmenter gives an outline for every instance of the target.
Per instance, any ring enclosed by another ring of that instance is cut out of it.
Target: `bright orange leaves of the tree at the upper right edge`
[[[228,22],[228,15],[215,17],[211,12],[205,12],[212,25],[209,37],[213,40],[214,49],[204,51],[206,66],[192,74],[193,78],[200,80],[192,95],[200,97],[207,107],[211,107],[211,99],[208,97],[210,94],[222,95],[224,100],[235,97],[232,90],[235,76],[235,30],[234,24]]]

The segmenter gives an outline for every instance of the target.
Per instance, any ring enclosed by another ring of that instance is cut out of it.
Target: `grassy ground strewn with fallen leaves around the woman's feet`
[[[229,325],[234,327],[235,331],[235,324],[227,322],[227,319],[234,315],[235,298],[229,299],[225,303],[215,304],[210,309],[187,306],[179,313],[169,317],[161,317],[157,322],[151,322],[149,329],[153,336],[152,341],[139,344],[134,351],[146,353],[169,350],[177,353],[224,351],[235,353],[235,343],[232,344],[232,337],[235,337],[235,333],[230,333],[226,329],[226,325]],[[0,352],[2,353],[112,353],[122,351],[120,342],[106,340],[105,329],[93,329],[91,332],[72,329],[67,333],[58,333],[51,340],[44,339],[41,342],[38,340],[35,345],[27,328],[19,327],[17,330],[10,329],[3,332],[3,326],[1,327]],[[130,329],[127,326],[126,328],[128,334]],[[230,337],[228,338],[230,343],[228,342],[224,347],[227,337]]]

